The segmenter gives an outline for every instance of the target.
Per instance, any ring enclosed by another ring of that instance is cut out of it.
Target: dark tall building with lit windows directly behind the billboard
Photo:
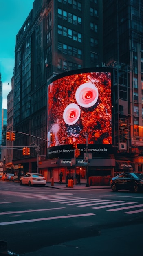
[[[47,81],[102,62],[102,1],[33,2],[16,36],[13,102],[14,146],[30,146],[30,157],[14,150],[15,164],[36,171],[37,153],[46,156]]]

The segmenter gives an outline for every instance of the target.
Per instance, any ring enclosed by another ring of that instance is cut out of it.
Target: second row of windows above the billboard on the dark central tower
[[[66,45],[65,43],[58,42],[58,52],[74,56],[76,58],[82,58],[82,50],[77,49],[71,45]]]

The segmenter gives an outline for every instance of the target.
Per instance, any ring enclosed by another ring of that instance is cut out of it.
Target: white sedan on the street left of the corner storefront
[[[31,185],[46,185],[45,177],[40,173],[27,173],[25,176],[21,177],[20,185],[26,184],[28,186]]]

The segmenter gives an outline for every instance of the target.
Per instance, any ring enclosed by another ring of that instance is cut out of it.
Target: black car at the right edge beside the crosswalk
[[[120,173],[110,181],[112,191],[126,189],[134,192],[143,191],[142,173]]]

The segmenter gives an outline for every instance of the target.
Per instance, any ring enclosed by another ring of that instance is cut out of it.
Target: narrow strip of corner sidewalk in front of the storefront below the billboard
[[[86,186],[86,184],[73,185],[73,188],[68,187],[68,184],[62,183],[59,184],[57,182],[54,183],[54,186],[51,186],[51,182],[47,182],[46,186],[48,188],[54,189],[66,189],[66,190],[79,190],[79,189],[110,189],[110,186]]]

